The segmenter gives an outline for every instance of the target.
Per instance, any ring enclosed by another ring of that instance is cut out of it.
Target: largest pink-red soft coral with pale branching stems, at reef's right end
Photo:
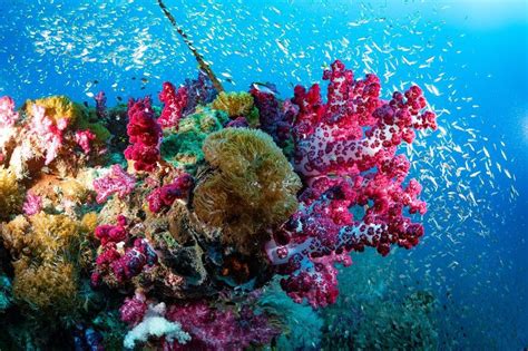
[[[403,211],[424,214],[426,203],[418,199],[415,179],[403,185],[410,164],[395,152],[403,140],[412,143],[413,129],[436,128],[415,86],[384,101],[378,77],[354,80],[340,61],[323,78],[330,80],[326,104],[319,85],[295,88],[294,166],[309,186],[297,213],[266,245],[271,262],[286,275],[283,289],[314,308],[335,301],[334,263],[351,264],[349,252],[372,246],[387,255],[391,244],[418,244],[423,227]]]

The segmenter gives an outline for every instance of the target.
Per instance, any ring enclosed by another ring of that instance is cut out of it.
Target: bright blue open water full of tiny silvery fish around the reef
[[[432,291],[440,350],[528,347],[526,1],[166,2],[217,75],[235,82],[228,90],[273,81],[290,97],[334,59],[356,76],[385,75],[385,97],[393,86],[422,86],[444,109],[443,131],[420,138],[412,169],[426,188],[427,236],[411,252],[370,260],[383,270],[374,285]],[[99,90],[114,105],[196,75],[156,1],[0,3],[0,95],[19,105],[53,94],[92,104]],[[366,260],[354,261],[342,280]]]

